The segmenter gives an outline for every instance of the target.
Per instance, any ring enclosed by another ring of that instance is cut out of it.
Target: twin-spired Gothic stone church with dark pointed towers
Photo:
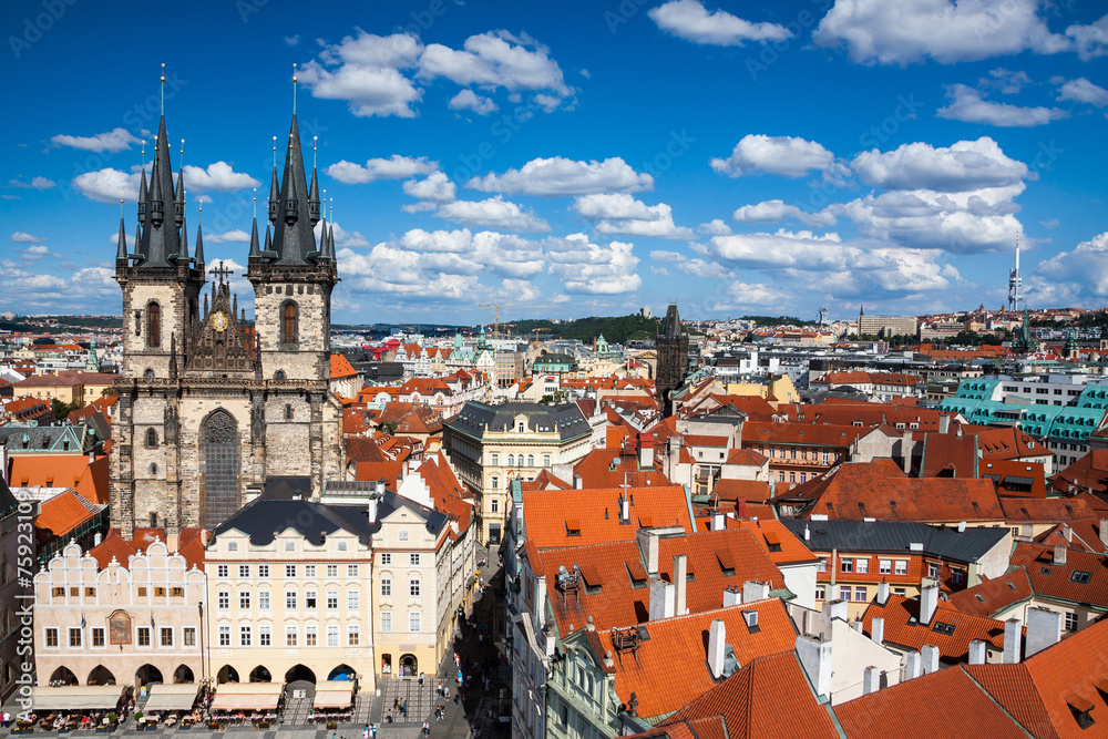
[[[167,141],[163,117],[134,252],[121,219],[115,259],[124,338],[111,519],[125,538],[142,526],[214,530],[274,478],[307,479],[316,496],[345,462],[342,408],[328,390],[334,232],[325,220],[317,243],[316,172],[308,186],[296,116],[279,179],[274,167],[264,246],[254,223],[254,326],[222,265],[208,287],[199,229],[189,254]]]

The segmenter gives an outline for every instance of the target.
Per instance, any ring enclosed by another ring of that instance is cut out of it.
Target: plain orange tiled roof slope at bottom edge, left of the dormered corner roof
[[[1016,721],[960,668],[941,669],[834,708],[853,739],[1025,739]]]

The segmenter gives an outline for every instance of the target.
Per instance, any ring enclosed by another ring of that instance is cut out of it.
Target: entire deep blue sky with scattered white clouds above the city
[[[7,0],[0,310],[119,312],[162,64],[189,243],[247,306],[295,88],[336,322],[995,309],[1017,239],[1027,306],[1104,307],[1106,10]]]

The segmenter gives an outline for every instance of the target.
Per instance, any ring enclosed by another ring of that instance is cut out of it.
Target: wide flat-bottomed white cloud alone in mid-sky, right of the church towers
[[[618,156],[603,162],[595,160],[579,162],[562,156],[552,156],[531,160],[521,168],[509,170],[503,174],[490,172],[484,177],[470,179],[465,186],[486,193],[523,193],[555,197],[653,189],[654,177],[646,173],[635,172]]]

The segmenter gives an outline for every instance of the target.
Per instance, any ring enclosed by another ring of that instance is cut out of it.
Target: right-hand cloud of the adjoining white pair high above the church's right
[[[419,63],[421,78],[442,76],[462,86],[573,93],[565,84],[562,69],[550,58],[550,50],[525,34],[479,33],[468,38],[461,50],[428,44]]]

